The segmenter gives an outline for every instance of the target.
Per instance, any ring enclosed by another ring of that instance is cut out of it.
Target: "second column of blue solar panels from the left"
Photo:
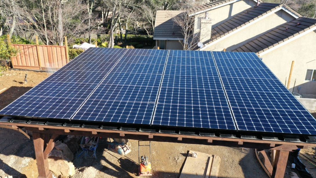
[[[150,124],[167,53],[128,50],[72,119]]]

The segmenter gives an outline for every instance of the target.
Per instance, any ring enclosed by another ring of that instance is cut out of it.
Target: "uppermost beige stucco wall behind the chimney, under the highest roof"
[[[208,11],[209,18],[212,19],[212,27],[216,27],[217,25],[231,19],[236,14],[251,8],[256,5],[256,2],[253,0],[249,0],[249,4],[246,4],[245,0],[241,0],[235,3],[231,3],[213,10]],[[205,12],[195,15],[194,22],[194,33],[199,33],[200,29],[198,29],[198,23],[200,21],[199,18],[205,17]]]

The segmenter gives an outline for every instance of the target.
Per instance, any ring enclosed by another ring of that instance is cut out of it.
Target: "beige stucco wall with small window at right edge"
[[[316,69],[315,41],[316,30],[260,57],[283,84],[289,79],[292,60],[294,60],[289,90],[292,92],[296,79],[294,92],[316,94],[316,81],[305,80],[307,69]],[[298,86],[301,86],[301,90],[297,90]]]

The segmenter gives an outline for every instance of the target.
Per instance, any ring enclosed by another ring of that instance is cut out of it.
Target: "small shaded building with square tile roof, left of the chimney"
[[[183,49],[184,36],[181,33],[181,27],[173,22],[172,18],[183,11],[179,10],[157,10],[154,40],[155,49]]]

